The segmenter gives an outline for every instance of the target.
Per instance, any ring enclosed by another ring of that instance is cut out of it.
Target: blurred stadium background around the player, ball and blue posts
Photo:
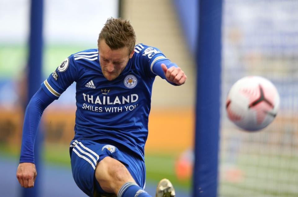
[[[221,44],[213,46],[222,49],[217,195],[298,196],[298,1],[223,0],[222,4]],[[97,47],[98,33],[106,19],[119,15],[131,21],[138,43],[160,48],[186,72],[187,83],[181,87],[169,86],[160,78],[156,78],[153,87],[145,148],[146,186],[151,195],[164,177],[173,182],[177,197],[191,196],[192,187],[197,187],[192,186],[192,163],[196,68],[200,69],[195,62],[199,52],[198,6],[196,0],[90,0],[84,4],[78,0],[71,4],[44,0],[42,79],[70,54]],[[29,0],[0,2],[0,196],[3,197],[22,196],[15,173],[23,105],[27,102],[29,12]],[[240,131],[225,114],[229,88],[247,75],[268,78],[281,96],[277,118],[261,132]],[[208,105],[212,103],[206,104],[207,108]],[[74,112],[73,84],[43,114],[39,196],[85,196],[75,186],[70,171],[68,147],[74,135]]]

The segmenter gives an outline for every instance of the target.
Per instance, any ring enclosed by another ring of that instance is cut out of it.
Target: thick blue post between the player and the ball
[[[222,0],[201,0],[198,17],[193,196],[215,197],[218,184]]]

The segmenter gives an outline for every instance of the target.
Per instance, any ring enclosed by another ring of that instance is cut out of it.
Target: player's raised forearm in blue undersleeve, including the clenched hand
[[[183,70],[168,59],[157,61],[153,72],[173,85],[182,85],[187,79]]]

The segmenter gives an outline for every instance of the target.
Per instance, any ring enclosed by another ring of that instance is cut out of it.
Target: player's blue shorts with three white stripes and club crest
[[[117,159],[128,169],[136,183],[144,188],[146,170],[144,160],[113,141],[75,140],[70,145],[70,162],[72,175],[77,186],[88,196],[94,193],[106,193],[95,179],[95,168],[105,157]]]

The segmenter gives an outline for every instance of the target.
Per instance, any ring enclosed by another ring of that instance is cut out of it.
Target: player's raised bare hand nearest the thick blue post
[[[172,66],[168,69],[165,64],[161,64],[161,68],[169,82],[176,83],[177,85],[182,85],[185,83],[187,76],[180,67]]]

